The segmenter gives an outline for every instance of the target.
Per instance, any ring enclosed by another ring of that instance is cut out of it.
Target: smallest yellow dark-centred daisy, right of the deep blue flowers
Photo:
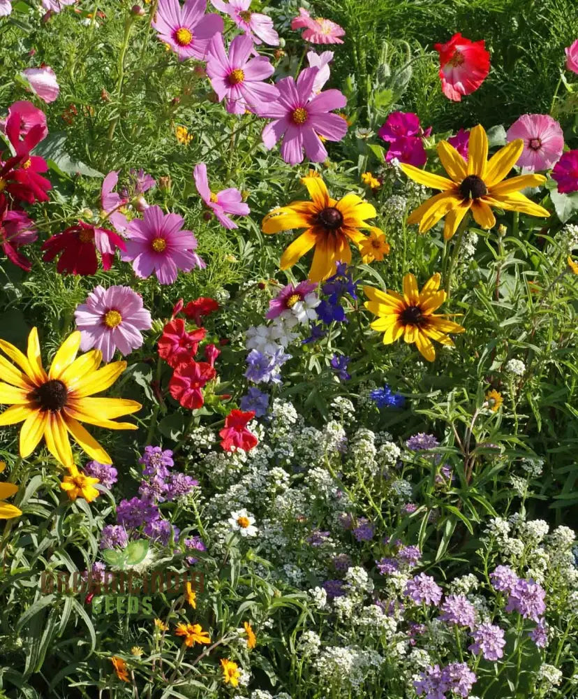
[[[465,328],[447,320],[445,315],[434,314],[447,296],[445,291],[438,291],[440,281],[441,277],[436,273],[424,284],[422,291],[418,291],[415,276],[406,274],[403,278],[403,296],[390,289],[386,293],[373,287],[363,287],[369,298],[364,304],[365,308],[378,316],[371,323],[371,328],[384,333],[384,345],[390,345],[403,336],[406,343],[415,343],[427,361],[436,359],[431,340],[454,347],[446,333],[463,333]]]

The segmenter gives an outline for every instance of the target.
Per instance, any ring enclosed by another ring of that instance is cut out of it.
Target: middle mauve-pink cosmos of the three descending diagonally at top
[[[274,85],[262,82],[274,72],[269,59],[257,56],[249,59],[253,41],[246,34],[239,34],[231,41],[229,55],[225,52],[223,35],[215,34],[209,44],[207,75],[218,100],[226,98],[230,114],[244,114],[247,109],[260,113],[262,103],[279,96]]]

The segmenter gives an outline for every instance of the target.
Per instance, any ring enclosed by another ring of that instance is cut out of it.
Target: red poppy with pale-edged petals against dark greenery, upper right
[[[442,92],[454,102],[477,90],[489,73],[489,53],[484,40],[470,41],[454,34],[445,44],[434,44],[440,55]]]

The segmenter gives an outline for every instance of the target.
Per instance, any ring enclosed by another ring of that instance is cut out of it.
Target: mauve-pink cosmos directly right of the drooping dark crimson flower
[[[178,214],[163,214],[160,206],[149,206],[144,219],[133,219],[126,231],[125,262],[132,261],[135,275],[146,279],[153,272],[161,284],[172,284],[179,269],[190,272],[205,263],[196,254],[193,231],[183,231],[184,219]]]

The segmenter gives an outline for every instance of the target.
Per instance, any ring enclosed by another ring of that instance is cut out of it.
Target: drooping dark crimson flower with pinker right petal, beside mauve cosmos
[[[59,273],[92,275],[98,269],[96,250],[103,258],[103,269],[109,270],[114,259],[114,250],[126,250],[124,240],[117,233],[79,221],[75,226],[58,233],[43,243],[46,252],[43,260],[51,262],[61,252],[57,264]]]

